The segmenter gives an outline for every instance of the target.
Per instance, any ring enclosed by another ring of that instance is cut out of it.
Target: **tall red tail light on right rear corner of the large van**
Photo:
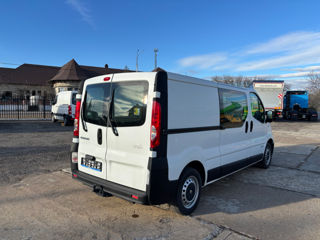
[[[160,144],[161,106],[157,101],[152,104],[152,119],[150,129],[150,148],[156,148]]]

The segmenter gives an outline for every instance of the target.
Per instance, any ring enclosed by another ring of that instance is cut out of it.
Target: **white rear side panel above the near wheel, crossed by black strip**
[[[219,117],[217,88],[169,79],[169,180],[178,179],[194,160],[202,162],[206,170],[220,166]]]

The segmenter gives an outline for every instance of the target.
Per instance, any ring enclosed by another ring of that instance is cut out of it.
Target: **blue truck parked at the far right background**
[[[287,91],[283,98],[283,118],[287,120],[317,121],[318,113],[309,108],[308,91]]]

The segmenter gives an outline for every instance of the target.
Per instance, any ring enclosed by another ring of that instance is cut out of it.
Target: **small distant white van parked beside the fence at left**
[[[76,95],[76,91],[63,91],[56,95],[51,108],[52,122],[63,121],[65,126],[72,123],[75,116]]]

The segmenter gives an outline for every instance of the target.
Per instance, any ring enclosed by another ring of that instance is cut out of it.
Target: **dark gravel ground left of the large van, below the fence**
[[[69,167],[72,129],[48,121],[0,121],[0,185]]]

